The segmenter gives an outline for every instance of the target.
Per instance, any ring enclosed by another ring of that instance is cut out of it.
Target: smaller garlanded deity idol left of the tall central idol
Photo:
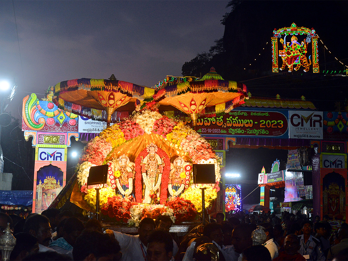
[[[122,197],[129,196],[133,191],[134,163],[130,162],[129,158],[123,154],[116,159],[116,167],[121,174],[116,179],[117,188]]]

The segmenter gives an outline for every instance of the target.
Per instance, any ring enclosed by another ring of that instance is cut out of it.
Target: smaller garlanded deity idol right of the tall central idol
[[[177,157],[171,164],[171,172],[169,174],[168,191],[172,197],[177,197],[185,188],[185,169],[186,162],[184,159]]]

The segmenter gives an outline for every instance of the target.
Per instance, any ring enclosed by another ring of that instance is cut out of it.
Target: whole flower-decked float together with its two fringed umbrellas
[[[168,215],[175,223],[194,219],[202,199],[192,182],[192,164],[215,165],[215,184],[203,184],[208,207],[219,191],[221,159],[190,126],[166,113],[181,111],[196,126],[199,116],[229,112],[247,93],[244,84],[224,80],[214,68],[201,79],[167,76],[151,88],[114,75],[59,82],[53,98],[59,108],[108,124],[82,153],[70,201],[93,210],[96,191],[87,189],[89,168],[108,164],[108,181],[100,189],[104,216],[130,226],[145,216]]]

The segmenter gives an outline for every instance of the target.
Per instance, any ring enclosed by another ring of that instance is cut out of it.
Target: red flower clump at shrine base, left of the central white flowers
[[[120,196],[113,196],[108,198],[108,202],[100,209],[101,213],[109,217],[114,217],[117,221],[127,223],[128,219],[130,219],[129,208],[133,205],[130,201],[131,197],[122,198]]]

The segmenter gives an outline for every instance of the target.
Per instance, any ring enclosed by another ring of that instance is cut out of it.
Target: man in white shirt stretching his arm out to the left
[[[121,247],[122,257],[120,260],[147,260],[147,245],[151,232],[155,230],[155,221],[149,217],[145,217],[139,224],[139,235],[132,236],[122,234],[121,232],[110,229],[105,230],[105,233],[114,236]]]

